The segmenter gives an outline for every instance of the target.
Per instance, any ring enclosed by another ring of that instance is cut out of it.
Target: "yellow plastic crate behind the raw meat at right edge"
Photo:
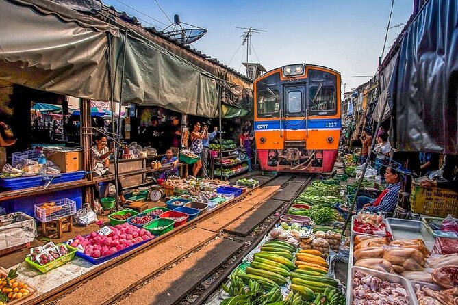
[[[458,192],[437,187],[420,187],[412,184],[410,209],[412,213],[434,217],[458,217]]]

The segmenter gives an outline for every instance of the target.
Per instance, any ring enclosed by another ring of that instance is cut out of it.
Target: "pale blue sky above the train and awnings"
[[[392,0],[157,0],[159,6],[155,0],[103,3],[159,30],[179,14],[182,23],[208,31],[192,47],[242,74],[246,46],[241,46],[243,29],[235,27],[262,29],[265,32],[253,34],[250,62],[260,62],[268,71],[296,63],[327,66],[341,73],[342,92],[365,83],[377,72],[392,6]],[[412,7],[413,0],[394,0],[385,55]]]

